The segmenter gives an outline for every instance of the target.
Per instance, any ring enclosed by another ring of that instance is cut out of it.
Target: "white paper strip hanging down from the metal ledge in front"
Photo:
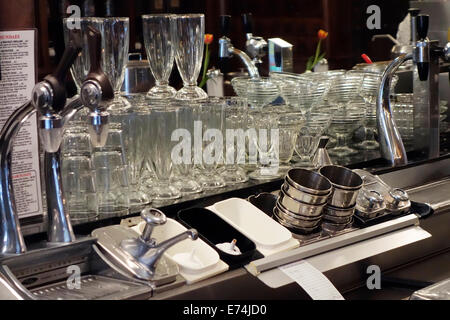
[[[302,260],[279,267],[314,300],[344,300],[325,275],[307,261]]]

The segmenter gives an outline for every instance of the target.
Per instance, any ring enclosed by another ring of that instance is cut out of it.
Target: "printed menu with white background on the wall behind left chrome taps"
[[[36,45],[36,30],[0,31],[0,128],[31,98]],[[37,130],[34,114],[23,124],[13,147],[13,187],[20,218],[42,214]]]

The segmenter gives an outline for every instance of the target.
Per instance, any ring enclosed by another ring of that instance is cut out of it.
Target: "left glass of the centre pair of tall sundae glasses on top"
[[[150,69],[156,85],[147,93],[149,99],[168,99],[177,91],[169,86],[174,61],[174,43],[171,36],[171,14],[142,16],[143,36]]]

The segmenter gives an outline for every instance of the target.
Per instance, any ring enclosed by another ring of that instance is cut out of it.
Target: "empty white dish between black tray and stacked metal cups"
[[[292,239],[288,229],[244,199],[230,198],[215,203],[210,209],[255,242],[258,250],[273,250]]]

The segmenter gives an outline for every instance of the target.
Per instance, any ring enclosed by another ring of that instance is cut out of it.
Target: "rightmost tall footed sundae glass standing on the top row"
[[[183,88],[175,98],[179,100],[199,100],[208,97],[197,86],[203,59],[205,16],[203,14],[183,14],[171,17],[172,40],[175,47],[175,61],[183,79]]]

